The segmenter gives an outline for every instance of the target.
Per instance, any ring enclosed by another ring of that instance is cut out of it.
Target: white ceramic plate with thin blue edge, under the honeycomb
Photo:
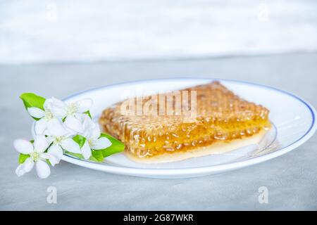
[[[94,106],[91,113],[97,119],[104,108],[122,101],[131,94],[142,96],[144,94],[153,94],[153,90],[172,91],[208,83],[212,80],[156,79],[130,82],[85,91],[70,96],[65,101],[92,98]],[[132,162],[123,153],[112,155],[102,163],[80,160],[69,155],[64,155],[63,160],[90,169],[130,176],[167,179],[205,176],[247,167],[278,157],[302,145],[316,131],[316,110],[302,98],[259,84],[221,79],[220,82],[242,98],[265,105],[266,108],[271,110],[270,118],[274,128],[259,146],[247,146],[230,153],[154,165]]]

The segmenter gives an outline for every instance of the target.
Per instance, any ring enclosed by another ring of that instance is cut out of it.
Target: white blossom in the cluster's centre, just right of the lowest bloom
[[[57,158],[57,163],[63,157],[63,150],[81,154],[80,146],[72,139],[73,134],[63,127],[63,124],[59,120],[54,119],[47,124],[46,135],[51,144],[48,153]]]

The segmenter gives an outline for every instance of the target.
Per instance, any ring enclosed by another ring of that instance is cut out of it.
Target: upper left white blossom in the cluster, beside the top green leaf
[[[40,108],[27,108],[27,112],[37,119],[35,122],[35,134],[44,134],[47,129],[47,123],[56,118],[56,116],[51,112],[51,98],[47,99],[43,105],[44,110]]]

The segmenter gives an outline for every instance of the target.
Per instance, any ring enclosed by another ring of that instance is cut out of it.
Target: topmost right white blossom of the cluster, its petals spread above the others
[[[81,133],[82,115],[92,107],[92,99],[83,99],[74,103],[64,103],[56,98],[51,98],[51,112],[59,118],[65,119],[68,129]]]

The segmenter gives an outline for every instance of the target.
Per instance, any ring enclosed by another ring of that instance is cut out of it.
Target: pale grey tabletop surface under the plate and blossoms
[[[15,176],[13,139],[30,137],[18,100],[33,91],[63,98],[105,84],[159,77],[242,79],[292,91],[317,105],[317,54],[161,62],[0,67],[0,210],[317,210],[317,138],[279,158],[195,179],[143,179],[61,162],[49,179]],[[63,82],[61,82],[63,80]],[[58,204],[46,203],[56,186]],[[269,203],[258,203],[268,187]]]

